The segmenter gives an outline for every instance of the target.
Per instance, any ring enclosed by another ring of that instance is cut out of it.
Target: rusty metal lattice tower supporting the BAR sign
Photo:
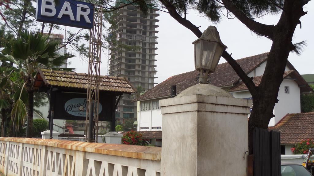
[[[102,7],[95,7],[94,25],[90,30],[89,65],[86,106],[86,135],[87,142],[98,142],[98,108],[100,85],[100,55],[102,32]],[[90,119],[92,118],[92,119]]]

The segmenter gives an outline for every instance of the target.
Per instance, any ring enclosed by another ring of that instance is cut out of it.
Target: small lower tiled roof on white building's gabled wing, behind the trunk
[[[312,91],[311,87],[307,85],[305,80],[298,73],[296,73],[295,70],[285,71],[283,78],[286,78],[287,76],[290,76],[293,79],[295,79],[298,85],[306,85],[306,86],[300,86],[300,89],[302,92]],[[255,86],[258,86],[261,83],[262,77],[263,75],[253,77],[253,82]],[[228,92],[236,92],[236,91],[244,91],[244,90],[247,90],[247,87],[244,84],[244,82],[240,82],[238,85],[232,87]]]

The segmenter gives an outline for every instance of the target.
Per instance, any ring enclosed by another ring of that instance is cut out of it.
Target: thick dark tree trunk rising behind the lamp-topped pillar
[[[282,18],[285,15],[282,15]],[[257,86],[257,93],[252,94],[253,108],[248,122],[249,154],[253,154],[254,128],[268,128],[273,114],[273,108],[278,102],[279,87],[283,81],[289,53],[292,50],[292,37],[297,24],[288,20],[280,20],[273,31],[273,44],[267,58],[267,64]],[[283,29],[289,29],[283,30]]]

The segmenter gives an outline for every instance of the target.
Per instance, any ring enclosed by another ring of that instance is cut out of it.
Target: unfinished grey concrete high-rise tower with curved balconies
[[[134,87],[141,86],[145,91],[157,84],[154,82],[157,72],[157,10],[149,8],[145,15],[136,4],[125,6],[116,11],[114,25],[111,26],[111,35],[115,37],[116,44],[112,44],[110,49],[109,75],[126,77]],[[137,104],[131,102],[133,99],[132,95],[122,96],[116,112],[116,119],[120,122],[136,118]]]

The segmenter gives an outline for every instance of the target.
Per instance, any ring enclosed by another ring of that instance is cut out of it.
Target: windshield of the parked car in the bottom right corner
[[[281,166],[281,176],[311,176],[311,174],[301,165]]]

